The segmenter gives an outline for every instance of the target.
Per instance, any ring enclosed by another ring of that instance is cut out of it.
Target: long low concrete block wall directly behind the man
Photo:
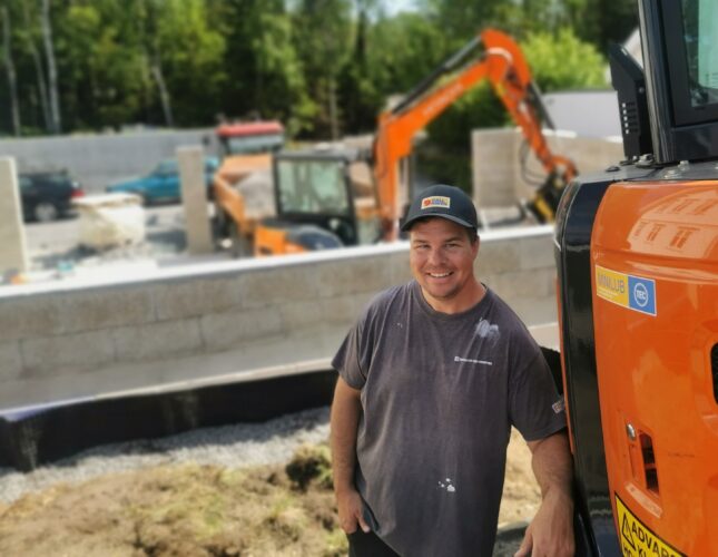
[[[407,258],[402,242],[1,287],[0,409],[326,369]],[[555,320],[552,227],[485,233],[476,272],[528,323]]]

